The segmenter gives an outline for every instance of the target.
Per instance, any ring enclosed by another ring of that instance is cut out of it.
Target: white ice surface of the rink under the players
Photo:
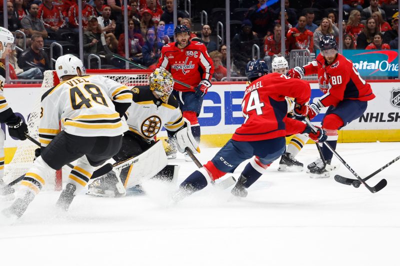
[[[205,163],[217,148],[203,148]],[[399,155],[400,143],[337,145],[365,177]],[[298,155],[317,157],[314,145]],[[183,155],[179,182],[196,169]],[[56,211],[59,192],[43,191],[14,224],[0,226],[0,266],[394,266],[400,264],[400,162],[367,183],[387,179],[376,194],[305,171],[278,172],[273,163],[234,199],[207,187],[177,205],[173,188],[148,183],[148,195],[120,199],[75,197]],[[339,164],[334,160],[335,164]],[[237,177],[245,163],[235,171]],[[335,171],[354,178],[343,166]],[[175,185],[175,187],[177,184]],[[10,202],[0,202],[3,209]]]

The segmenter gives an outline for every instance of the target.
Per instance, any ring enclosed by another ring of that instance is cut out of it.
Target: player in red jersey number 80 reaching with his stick
[[[314,98],[309,106],[294,108],[299,115],[308,113],[309,119],[315,117],[321,108],[328,107],[322,119],[322,128],[326,130],[327,143],[335,149],[337,130],[360,117],[367,107],[367,101],[375,98],[371,86],[363,80],[350,60],[337,53],[336,40],[324,35],[319,42],[321,53],[307,65],[289,69],[287,75],[302,78],[304,75],[318,74],[320,98]],[[332,153],[322,147],[322,155],[328,164],[326,169],[321,159],[308,165],[311,176],[329,177]]]

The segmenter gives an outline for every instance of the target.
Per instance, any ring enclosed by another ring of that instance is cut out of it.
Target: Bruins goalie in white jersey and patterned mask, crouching
[[[159,157],[151,159],[151,154],[154,153],[158,155],[162,153],[164,159],[166,159],[162,145],[159,145],[161,149],[155,148],[154,142],[156,134],[162,126],[167,130],[168,135],[176,139],[179,152],[183,153],[184,149],[188,147],[193,153],[197,153],[198,144],[191,134],[190,124],[182,117],[178,101],[171,95],[173,83],[172,75],[167,70],[157,68],[149,76],[149,85],[135,86],[131,89],[133,101],[126,112],[129,131],[124,133],[122,147],[112,157],[114,161],[121,162],[131,157],[140,158],[143,154],[149,153],[141,160],[146,164],[145,167],[154,169],[159,167],[159,170],[165,167],[157,176],[165,178],[166,175],[168,178],[172,178],[176,174],[176,172],[174,173],[176,171],[174,166],[165,166],[166,160]],[[148,165],[149,161],[151,161],[151,166]],[[89,185],[88,195],[124,196],[127,188],[140,184],[140,182],[133,182],[129,179],[131,171],[137,170],[138,167],[138,165],[129,165],[122,169],[120,173],[110,171]],[[108,165],[108,168],[111,169],[111,166]],[[140,176],[143,175],[144,173]],[[148,178],[150,177],[148,176]]]

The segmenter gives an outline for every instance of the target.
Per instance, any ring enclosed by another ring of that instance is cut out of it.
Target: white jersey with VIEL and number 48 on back
[[[39,140],[43,147],[61,130],[83,137],[118,136],[126,122],[115,103],[131,103],[130,90],[100,75],[74,77],[46,91],[41,97]]]

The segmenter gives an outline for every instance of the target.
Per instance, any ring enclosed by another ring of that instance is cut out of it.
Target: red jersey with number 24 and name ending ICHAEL
[[[288,108],[285,96],[304,104],[310,95],[308,82],[300,82],[299,79],[279,73],[270,73],[254,80],[247,86],[241,103],[244,123],[236,129],[232,139],[258,141],[286,136]]]

